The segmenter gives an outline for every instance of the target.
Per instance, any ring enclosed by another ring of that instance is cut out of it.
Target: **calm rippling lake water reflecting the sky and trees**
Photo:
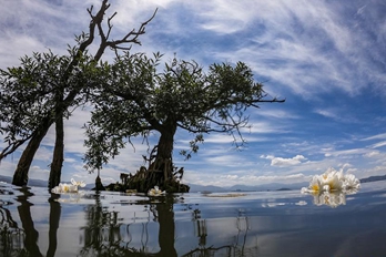
[[[386,183],[299,191],[51,195],[0,184],[0,256],[386,256]]]

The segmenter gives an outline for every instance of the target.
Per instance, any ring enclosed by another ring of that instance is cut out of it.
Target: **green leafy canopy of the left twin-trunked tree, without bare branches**
[[[74,49],[73,49],[74,50]],[[13,153],[21,144],[30,140],[44,119],[54,120],[57,92],[64,94],[78,86],[90,85],[90,56],[83,54],[68,75],[74,51],[69,55],[55,55],[34,52],[32,56],[21,58],[21,65],[0,70],[0,133],[8,144],[0,153],[0,160]],[[73,106],[81,104],[82,97],[74,99]],[[69,117],[71,110],[64,110]]]

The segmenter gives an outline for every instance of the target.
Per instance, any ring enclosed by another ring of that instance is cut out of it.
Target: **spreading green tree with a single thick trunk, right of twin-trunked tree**
[[[263,85],[254,82],[243,62],[212,64],[205,73],[194,61],[174,59],[158,72],[161,58],[160,53],[148,58],[129,52],[116,56],[104,69],[109,72],[92,96],[94,111],[87,124],[84,160],[90,171],[102,168],[132,137],[160,133],[148,171],[140,175],[144,183],[136,186],[143,192],[154,185],[174,191],[170,187],[176,181],[172,152],[179,128],[194,135],[190,150],[181,152],[186,158],[207,133],[228,133],[238,146],[244,143],[241,128],[248,125],[248,107],[284,102],[266,100]]]

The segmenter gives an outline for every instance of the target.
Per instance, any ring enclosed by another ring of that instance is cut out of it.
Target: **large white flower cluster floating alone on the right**
[[[360,182],[353,174],[328,168],[322,175],[315,175],[308,187],[302,188],[302,194],[313,194],[315,205],[337,207],[346,204],[346,195],[355,194],[360,188]]]

